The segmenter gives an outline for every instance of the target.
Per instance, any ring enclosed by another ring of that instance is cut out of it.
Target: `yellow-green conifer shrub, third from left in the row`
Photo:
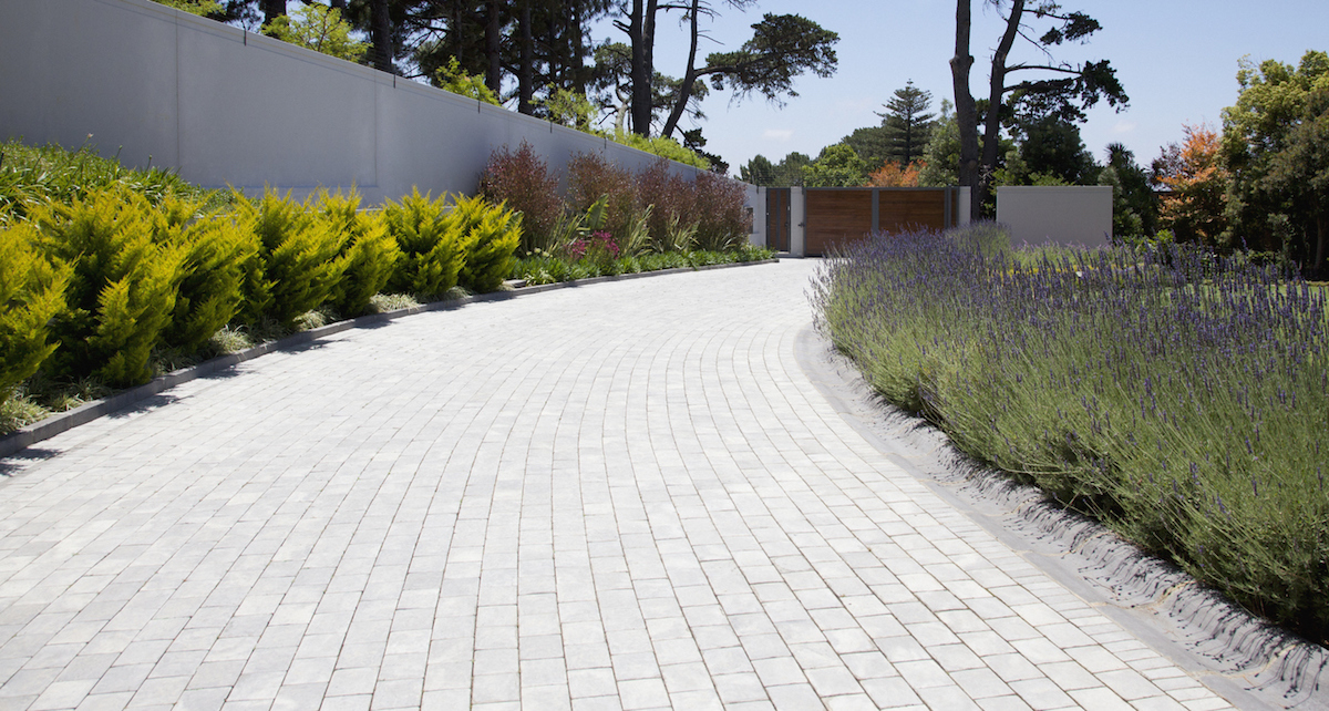
[[[231,322],[245,302],[246,270],[259,251],[249,223],[235,215],[199,214],[198,202],[166,198],[159,206],[157,239],[185,250],[175,312],[163,340],[194,352]]]

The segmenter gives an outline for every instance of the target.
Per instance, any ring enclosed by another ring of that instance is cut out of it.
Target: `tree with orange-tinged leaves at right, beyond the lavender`
[[[1227,229],[1228,171],[1219,162],[1219,134],[1209,126],[1184,125],[1185,141],[1171,144],[1154,161],[1154,182],[1162,195],[1159,222],[1177,242],[1217,245]]]

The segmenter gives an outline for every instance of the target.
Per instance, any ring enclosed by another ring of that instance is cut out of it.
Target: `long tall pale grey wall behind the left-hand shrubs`
[[[354,183],[367,205],[473,193],[490,153],[522,141],[557,173],[581,152],[634,171],[657,159],[149,0],[0,0],[0,140],[89,134],[203,186],[299,198]]]

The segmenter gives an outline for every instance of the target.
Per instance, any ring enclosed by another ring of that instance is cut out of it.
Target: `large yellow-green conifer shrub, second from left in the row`
[[[153,237],[157,211],[121,187],[32,211],[43,249],[73,264],[69,310],[56,320],[58,376],[94,375],[110,385],[146,383],[148,357],[175,310],[185,250]]]

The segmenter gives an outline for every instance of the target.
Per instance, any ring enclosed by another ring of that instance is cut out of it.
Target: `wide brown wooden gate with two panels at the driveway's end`
[[[960,222],[958,187],[808,187],[804,195],[809,256],[876,231],[946,230]]]

